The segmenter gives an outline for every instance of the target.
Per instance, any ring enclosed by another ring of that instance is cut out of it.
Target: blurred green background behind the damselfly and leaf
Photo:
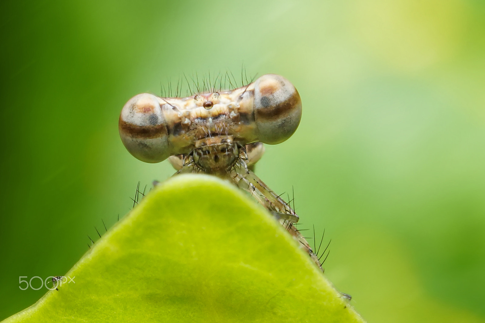
[[[19,290],[18,276],[63,275],[138,181],[174,172],[125,150],[124,103],[244,64],[300,92],[299,129],[256,173],[294,188],[302,227],[326,228],[325,275],[363,317],[485,322],[484,1],[0,8],[0,319],[47,291]]]

